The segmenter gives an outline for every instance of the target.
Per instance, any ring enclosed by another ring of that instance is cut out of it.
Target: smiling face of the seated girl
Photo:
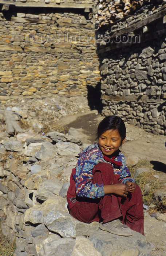
[[[121,137],[118,130],[107,130],[99,137],[99,148],[104,155],[110,156],[115,153],[121,144],[125,142],[125,139],[121,143]]]

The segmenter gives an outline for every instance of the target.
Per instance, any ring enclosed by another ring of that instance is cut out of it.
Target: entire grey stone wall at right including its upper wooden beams
[[[151,11],[153,10],[153,11]],[[164,6],[140,9],[99,38],[103,114],[117,114],[155,134],[166,133],[166,25]],[[146,24],[146,26],[145,26]],[[145,26],[145,27],[143,27]],[[118,35],[119,34],[119,35]],[[127,38],[122,42],[122,34]],[[135,43],[132,37],[138,36]]]

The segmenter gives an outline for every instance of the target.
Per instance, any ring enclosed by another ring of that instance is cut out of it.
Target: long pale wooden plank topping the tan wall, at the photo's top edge
[[[74,8],[74,9],[85,9],[85,8],[92,8],[93,5],[91,4],[77,4],[77,3],[62,3],[62,4],[56,4],[56,3],[43,3],[43,2],[26,2],[23,3],[21,1],[5,1],[0,0],[0,4],[11,4],[15,5],[16,7],[48,7],[48,8]]]

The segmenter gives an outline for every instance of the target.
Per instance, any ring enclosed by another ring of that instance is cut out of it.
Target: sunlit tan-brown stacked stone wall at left
[[[100,80],[94,16],[86,8],[92,3],[68,9],[25,4],[1,4],[9,9],[0,16],[0,95],[87,95]]]

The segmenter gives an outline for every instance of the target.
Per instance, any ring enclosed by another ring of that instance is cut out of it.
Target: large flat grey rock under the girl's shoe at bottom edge
[[[142,234],[132,231],[133,236],[117,236],[107,231],[98,230],[90,235],[89,239],[94,243],[102,256],[143,256],[150,255],[147,250],[147,241]]]

